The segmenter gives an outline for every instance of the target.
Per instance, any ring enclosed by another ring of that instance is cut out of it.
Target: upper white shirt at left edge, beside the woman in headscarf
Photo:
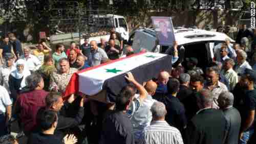
[[[9,75],[11,74],[12,71],[16,69],[15,64],[12,65],[12,67],[9,69],[7,66],[3,66],[0,68],[0,84],[7,89],[7,91],[10,93],[9,89]]]

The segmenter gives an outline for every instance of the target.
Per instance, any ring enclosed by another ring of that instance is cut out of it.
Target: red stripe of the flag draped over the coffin
[[[112,61],[110,61],[110,62],[102,63],[102,64],[97,65],[97,66],[93,66],[93,67],[89,67],[89,68],[86,68],[86,69],[77,71],[77,72],[74,73],[73,76],[71,77],[71,79],[70,79],[70,81],[69,81],[69,84],[68,84],[68,86],[66,87],[65,93],[62,93],[62,98],[63,98],[63,99],[68,99],[69,95],[79,92],[79,76],[78,76],[78,74],[81,74],[81,73],[84,73],[84,72],[86,72],[86,71],[89,71],[89,70],[92,70],[92,69],[101,67],[101,66],[103,66],[103,65],[111,64],[111,63],[114,63],[114,62],[117,62],[117,61],[121,61],[121,60],[124,60],[124,59],[127,59],[127,58],[131,58],[131,57],[134,57],[134,56],[138,56],[138,55],[141,55],[141,54],[144,54],[144,53],[145,53],[145,52],[143,52],[143,53],[138,53],[138,54],[133,54],[133,55],[128,56],[128,57],[124,57],[124,58],[112,60]]]

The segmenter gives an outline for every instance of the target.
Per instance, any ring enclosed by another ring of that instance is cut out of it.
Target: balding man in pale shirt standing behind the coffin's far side
[[[106,55],[106,52],[98,47],[97,42],[95,40],[92,40],[90,42],[90,45],[92,59],[89,63],[91,66],[100,65],[102,60],[109,59],[108,55]]]

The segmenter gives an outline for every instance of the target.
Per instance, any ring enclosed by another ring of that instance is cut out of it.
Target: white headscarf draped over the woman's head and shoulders
[[[22,83],[20,83],[20,87],[19,89],[22,89],[23,87],[26,86],[26,78],[31,75],[29,69],[25,66],[26,61],[24,59],[18,59],[16,62],[16,69],[14,71],[12,71],[11,75],[15,78],[15,79],[22,79]],[[22,71],[22,73],[19,73],[17,66],[18,65],[23,65],[24,69]]]

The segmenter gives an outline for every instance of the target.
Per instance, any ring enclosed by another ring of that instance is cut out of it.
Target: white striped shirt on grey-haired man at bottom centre
[[[183,144],[180,131],[166,121],[154,121],[144,128],[139,144]]]

